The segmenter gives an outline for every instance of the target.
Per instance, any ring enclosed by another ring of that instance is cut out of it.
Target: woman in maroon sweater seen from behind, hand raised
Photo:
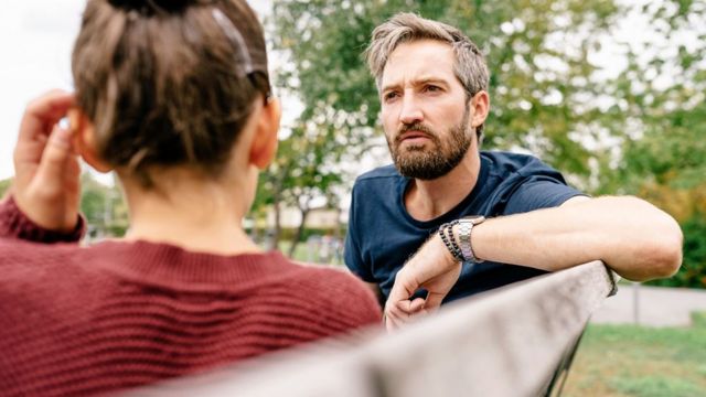
[[[3,395],[103,394],[379,322],[353,277],[242,227],[280,117],[244,0],[89,0],[73,73],[75,95],[28,106],[0,205]],[[78,155],[119,176],[125,238],[76,244]]]

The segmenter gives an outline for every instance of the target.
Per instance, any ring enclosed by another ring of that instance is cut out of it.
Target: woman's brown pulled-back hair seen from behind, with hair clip
[[[109,165],[217,176],[269,95],[263,29],[245,0],[88,0],[73,53],[77,105]]]

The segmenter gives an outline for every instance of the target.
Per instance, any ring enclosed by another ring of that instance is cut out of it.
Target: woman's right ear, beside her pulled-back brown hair
[[[266,169],[277,153],[277,131],[281,116],[279,100],[269,98],[263,106],[250,144],[250,164],[260,170]]]

